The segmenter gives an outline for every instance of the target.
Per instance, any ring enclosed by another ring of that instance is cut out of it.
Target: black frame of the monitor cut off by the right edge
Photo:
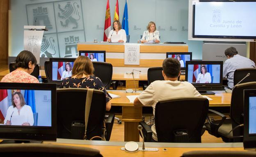
[[[244,90],[244,139],[245,149],[256,148],[256,133],[249,134],[249,97],[256,97],[256,89]]]

